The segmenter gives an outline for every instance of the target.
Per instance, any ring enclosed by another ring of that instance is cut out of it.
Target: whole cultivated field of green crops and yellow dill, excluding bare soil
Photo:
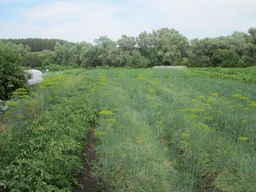
[[[1,117],[0,189],[71,191],[93,125],[99,191],[255,191],[253,76],[255,67],[48,73]]]

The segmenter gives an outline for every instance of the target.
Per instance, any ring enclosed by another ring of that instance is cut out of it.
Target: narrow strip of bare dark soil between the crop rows
[[[91,127],[92,129],[92,127]],[[91,169],[93,163],[97,162],[95,153],[93,152],[93,149],[95,148],[94,142],[96,141],[96,138],[93,134],[93,130],[87,133],[87,140],[86,146],[83,149],[82,153],[86,154],[86,156],[83,156],[83,162],[85,165],[86,171],[83,173],[78,174],[78,178],[80,182],[82,182],[82,185],[84,186],[84,189],[78,188],[76,185],[73,185],[74,192],[94,192],[97,189],[98,183],[92,179],[93,171]],[[90,165],[91,167],[90,167]]]

